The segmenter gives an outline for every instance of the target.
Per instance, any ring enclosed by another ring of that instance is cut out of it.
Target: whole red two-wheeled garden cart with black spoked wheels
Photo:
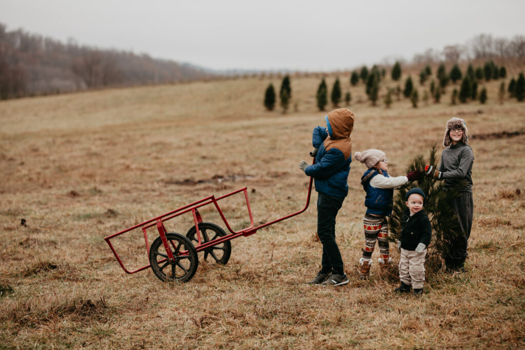
[[[314,156],[315,153],[311,152],[310,155]],[[315,158],[313,163],[315,163]],[[192,279],[197,270],[198,252],[204,251],[205,260],[209,258],[212,262],[214,261],[219,264],[226,264],[232,252],[232,244],[230,243],[230,240],[240,236],[247,237],[253,235],[261,228],[291,218],[292,216],[296,216],[305,211],[310,204],[312,179],[313,178],[310,178],[310,183],[308,185],[308,196],[304,208],[296,211],[296,213],[267,222],[266,224],[259,226],[254,225],[254,219],[251,214],[250,203],[248,200],[248,192],[246,187],[244,187],[220,197],[215,197],[212,195],[202,198],[201,200],[197,200],[192,204],[188,204],[178,209],[169,211],[169,213],[144,221],[141,224],[129,227],[104,239],[113,251],[113,254],[117,258],[120,266],[126,273],[135,273],[151,267],[153,273],[155,273],[155,275],[162,281],[187,282]],[[246,200],[246,206],[250,216],[250,226],[238,231],[234,231],[228,224],[228,220],[224,216],[223,211],[220,209],[218,202],[221,199],[241,192],[244,193]],[[226,231],[219,225],[216,225],[212,222],[203,221],[198,209],[207,205],[215,206],[224,222],[224,225],[229,231],[228,233],[226,233]],[[187,231],[185,236],[175,232],[166,231],[166,228],[164,227],[165,221],[190,212],[193,215],[193,221],[195,225]],[[156,229],[159,231],[159,237],[157,237],[153,241],[152,245],[149,246],[146,230],[152,227],[156,227]],[[137,270],[130,271],[124,267],[122,260],[117,254],[117,251],[111,244],[111,239],[135,229],[142,229],[145,240],[146,254],[148,254],[150,264]]]

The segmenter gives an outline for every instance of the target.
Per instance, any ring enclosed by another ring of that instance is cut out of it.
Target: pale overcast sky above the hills
[[[0,0],[0,23],[215,69],[334,71],[479,34],[525,35],[523,0]]]

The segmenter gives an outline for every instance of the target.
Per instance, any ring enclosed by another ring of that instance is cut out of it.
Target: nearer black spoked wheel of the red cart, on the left
[[[181,234],[166,234],[175,261],[167,260],[162,239],[157,237],[150,247],[150,265],[153,273],[164,282],[187,282],[198,267],[198,257],[192,242]]]

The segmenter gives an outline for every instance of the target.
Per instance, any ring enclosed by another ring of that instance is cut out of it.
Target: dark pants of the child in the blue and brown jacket
[[[344,274],[343,259],[335,242],[335,217],[344,197],[319,193],[317,197],[317,235],[323,245],[321,266],[323,273]]]

